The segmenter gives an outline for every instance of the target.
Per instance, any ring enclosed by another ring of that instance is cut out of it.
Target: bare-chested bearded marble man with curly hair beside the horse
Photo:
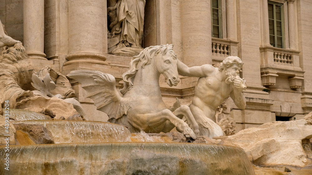
[[[210,64],[189,68],[179,60],[177,65],[181,75],[199,77],[190,109],[199,125],[200,135],[222,136],[224,133],[216,124],[217,107],[229,96],[238,108],[243,110],[246,107],[246,99],[241,93],[247,87],[246,80],[239,77],[243,65],[241,59],[229,56],[219,68]]]

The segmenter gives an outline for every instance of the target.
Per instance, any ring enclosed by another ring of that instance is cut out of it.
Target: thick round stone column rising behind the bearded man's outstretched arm
[[[210,0],[181,1],[183,62],[212,64]]]

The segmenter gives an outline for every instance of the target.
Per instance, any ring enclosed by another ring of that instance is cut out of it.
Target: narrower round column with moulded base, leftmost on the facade
[[[24,47],[30,58],[45,59],[44,0],[23,1]]]

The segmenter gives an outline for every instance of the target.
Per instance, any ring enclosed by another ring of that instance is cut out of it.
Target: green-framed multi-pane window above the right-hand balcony
[[[277,47],[277,37],[281,37],[282,38],[282,47],[281,49],[285,49],[285,38],[286,38],[286,35],[285,35],[285,12],[284,12],[284,4],[281,4],[281,3],[277,3],[277,2],[272,2],[272,1],[268,1],[268,5],[269,4],[272,4],[273,5],[273,18],[274,19],[271,19],[271,18],[268,18],[268,20],[273,20],[274,21],[274,35],[270,34],[269,33],[269,36],[274,36],[274,44],[275,45],[272,45],[273,47],[276,47],[276,48],[280,48],[280,47]],[[276,19],[276,9],[275,9],[275,5],[278,5],[280,6],[280,15],[281,15],[281,20],[277,20]],[[269,13],[269,11],[268,11]],[[276,21],[280,21],[281,22],[281,36],[278,36],[277,35],[277,32],[276,32]],[[270,30],[270,29],[269,29]],[[271,44],[271,43],[270,43]]]

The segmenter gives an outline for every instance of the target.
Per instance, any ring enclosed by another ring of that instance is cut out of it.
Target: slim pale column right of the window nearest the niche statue
[[[227,8],[227,39],[234,40],[234,3],[233,0],[227,0],[226,8]]]

